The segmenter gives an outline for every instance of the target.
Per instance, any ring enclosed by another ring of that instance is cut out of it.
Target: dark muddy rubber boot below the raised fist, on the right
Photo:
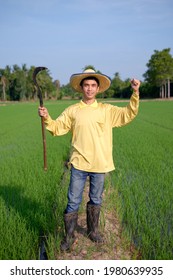
[[[98,232],[100,209],[100,205],[87,203],[87,234],[93,242],[97,243],[104,242],[104,239]]]

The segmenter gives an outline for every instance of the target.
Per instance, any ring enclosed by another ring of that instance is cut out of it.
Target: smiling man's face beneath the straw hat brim
[[[85,100],[95,100],[95,96],[99,91],[99,86],[95,80],[84,80],[82,90]]]

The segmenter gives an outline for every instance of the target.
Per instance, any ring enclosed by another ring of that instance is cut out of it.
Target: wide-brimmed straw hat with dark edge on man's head
[[[95,77],[96,79],[98,79],[98,81],[99,81],[98,93],[104,92],[111,85],[111,79],[108,76],[96,73],[93,69],[87,69],[83,73],[73,74],[70,77],[71,87],[78,92],[82,92],[80,83],[83,79],[88,78],[88,77]]]

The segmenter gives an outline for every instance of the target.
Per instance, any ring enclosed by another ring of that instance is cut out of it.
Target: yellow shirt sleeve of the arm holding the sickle
[[[56,119],[53,120],[50,116],[44,120],[46,129],[53,136],[61,136],[68,133],[71,130],[71,118],[66,109],[62,114]]]

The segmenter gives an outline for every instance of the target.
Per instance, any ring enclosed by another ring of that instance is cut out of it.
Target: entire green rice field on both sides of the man
[[[56,118],[70,104],[48,101],[45,106]],[[70,134],[46,132],[45,172],[37,108],[34,102],[0,104],[1,260],[39,259],[42,237],[49,259],[56,259],[63,236]],[[140,102],[136,119],[114,129],[113,145],[110,205],[123,234],[141,259],[173,259],[173,101]]]

